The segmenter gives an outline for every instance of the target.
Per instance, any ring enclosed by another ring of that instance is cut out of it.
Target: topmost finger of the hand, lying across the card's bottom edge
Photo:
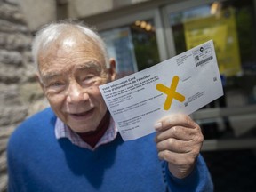
[[[155,124],[155,129],[156,131],[164,131],[172,126],[196,128],[196,123],[187,115],[172,114],[160,119],[160,121]]]

